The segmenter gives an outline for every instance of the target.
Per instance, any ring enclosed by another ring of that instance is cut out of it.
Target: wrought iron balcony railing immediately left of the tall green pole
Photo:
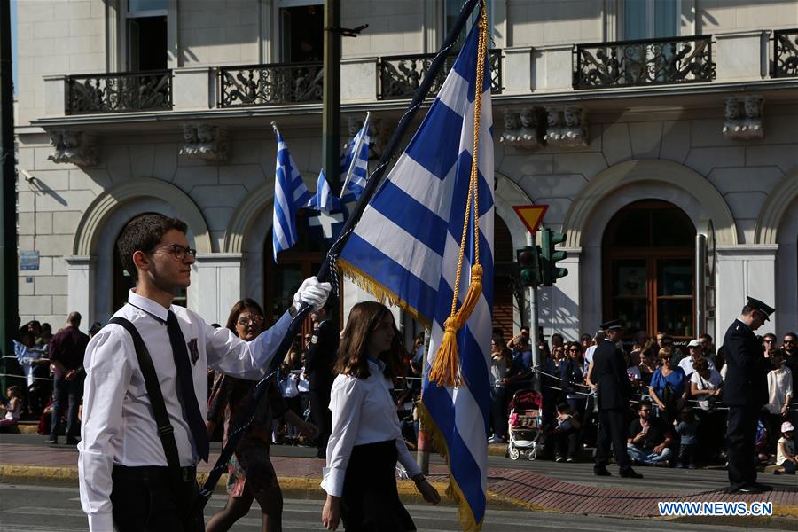
[[[274,63],[219,69],[220,107],[322,101],[322,63]]]

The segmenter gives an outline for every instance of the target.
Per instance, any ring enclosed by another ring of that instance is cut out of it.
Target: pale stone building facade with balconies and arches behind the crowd
[[[384,148],[460,0],[342,2],[341,113]],[[569,270],[539,293],[546,333],[609,317],[630,334],[722,337],[751,295],[763,331],[798,324],[798,4],[779,0],[488,0],[497,307],[528,322],[513,276],[547,205]],[[129,276],[113,248],[145,212],[187,221],[179,301],[223,323],[277,314],[317,269],[307,237],[271,261],[275,121],[315,188],[323,6],[307,0],[21,2],[20,315],[105,321]],[[419,117],[420,121],[420,117]],[[364,299],[344,287],[343,312]]]

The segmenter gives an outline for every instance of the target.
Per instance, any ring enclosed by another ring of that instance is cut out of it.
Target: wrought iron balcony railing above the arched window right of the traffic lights
[[[576,44],[574,89],[711,82],[712,36]]]

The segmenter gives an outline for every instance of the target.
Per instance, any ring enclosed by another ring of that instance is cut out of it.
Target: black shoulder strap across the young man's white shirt
[[[145,379],[147,395],[150,397],[150,404],[153,405],[153,416],[155,424],[158,426],[160,443],[163,445],[163,453],[166,455],[169,468],[169,479],[172,491],[176,499],[181,503],[184,510],[182,516],[184,530],[186,532],[204,532],[205,516],[200,497],[200,486],[196,478],[193,479],[191,492],[184,488],[186,483],[183,479],[183,468],[180,466],[180,458],[177,454],[177,443],[175,442],[175,428],[169,422],[166,404],[163,402],[163,393],[160,390],[158,376],[155,374],[153,359],[147,350],[144,340],[135,325],[124,317],[112,317],[109,323],[121,325],[133,339],[133,346],[136,348],[136,357],[141,374]]]

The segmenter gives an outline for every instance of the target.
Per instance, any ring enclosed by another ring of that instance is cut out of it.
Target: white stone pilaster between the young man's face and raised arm
[[[224,325],[230,309],[244,297],[244,254],[198,254],[188,288],[188,306],[196,310],[207,323]]]

